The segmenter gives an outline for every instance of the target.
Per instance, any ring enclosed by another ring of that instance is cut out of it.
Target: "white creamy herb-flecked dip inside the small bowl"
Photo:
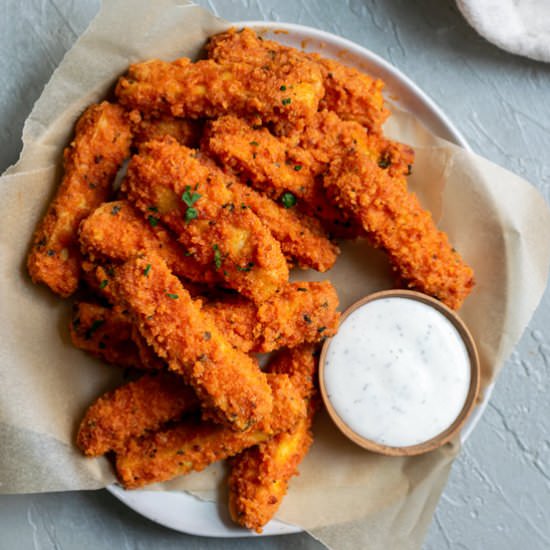
[[[408,298],[382,298],[341,324],[325,359],[325,389],[358,435],[391,447],[448,428],[470,386],[470,360],[454,325]]]

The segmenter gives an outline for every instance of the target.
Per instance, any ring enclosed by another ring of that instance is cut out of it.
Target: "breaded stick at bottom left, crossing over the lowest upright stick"
[[[128,489],[166,481],[293,429],[306,416],[306,407],[286,375],[269,375],[273,413],[242,432],[209,422],[181,422],[142,438],[132,438],[117,452],[116,470]]]

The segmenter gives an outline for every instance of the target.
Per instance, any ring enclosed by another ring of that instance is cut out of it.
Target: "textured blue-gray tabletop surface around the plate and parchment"
[[[411,77],[473,149],[550,197],[550,65],[479,38],[451,0],[204,0],[229,20],[302,23],[347,37]],[[98,0],[1,0],[0,169],[23,121]],[[456,461],[425,550],[550,548],[550,294]],[[181,535],[105,491],[1,496],[0,549],[320,548],[307,535],[220,541]]]

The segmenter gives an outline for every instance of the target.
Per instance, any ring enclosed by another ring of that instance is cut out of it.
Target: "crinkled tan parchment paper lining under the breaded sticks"
[[[228,26],[185,1],[111,1],[65,56],[25,124],[21,158],[0,180],[2,493],[95,489],[114,481],[105,459],[83,458],[73,442],[85,408],[119,384],[120,373],[70,345],[70,301],[32,285],[24,265],[74,122],[129,63],[194,57],[207,36]],[[415,147],[411,189],[474,267],[477,285],[460,313],[477,341],[486,387],[544,291],[548,208],[529,183],[436,138],[408,113],[395,110],[386,130]],[[298,277],[330,278],[342,309],[392,283],[384,254],[364,243],[346,244],[329,273]],[[315,436],[277,517],[335,548],[419,547],[458,443],[422,457],[381,457],[348,442],[324,414]],[[211,498],[223,475],[215,466],[162,488]]]

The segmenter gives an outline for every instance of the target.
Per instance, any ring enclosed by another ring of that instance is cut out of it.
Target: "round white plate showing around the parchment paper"
[[[403,73],[369,50],[339,36],[288,23],[266,21],[239,21],[236,27],[250,27],[262,32],[266,38],[277,40],[288,46],[308,51],[318,51],[326,57],[338,57],[346,51],[345,63],[366,70],[380,77],[386,83],[386,93],[403,109],[412,112],[433,133],[466,149],[470,149],[462,134],[445,116],[441,109]],[[283,31],[275,33],[275,31]],[[322,46],[321,46],[322,45]],[[482,403],[474,410],[461,434],[464,442],[478,423],[491,395],[493,387],[486,389]],[[184,492],[125,491],[118,485],[107,489],[127,506],[152,521],[176,531],[208,537],[250,537],[298,533],[302,529],[281,521],[270,521],[262,535],[236,527],[231,522],[227,505],[204,502]]]

